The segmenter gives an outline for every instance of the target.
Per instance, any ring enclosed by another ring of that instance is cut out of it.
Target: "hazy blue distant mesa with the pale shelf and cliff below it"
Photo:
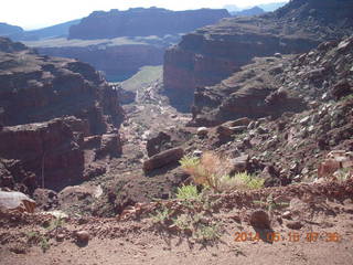
[[[20,40],[26,40],[25,44],[41,54],[78,59],[104,72],[108,81],[121,82],[145,65],[162,65],[165,49],[178,43],[183,33],[227,17],[226,10],[212,9],[96,11],[81,21],[57,25],[58,29],[28,32],[28,38]],[[30,38],[63,29],[67,29],[67,36]]]

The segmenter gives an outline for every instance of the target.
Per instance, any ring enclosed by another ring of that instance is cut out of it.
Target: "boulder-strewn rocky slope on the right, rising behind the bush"
[[[353,38],[346,38],[323,42],[299,55],[255,59],[255,63],[220,85],[205,87],[196,100],[200,113],[194,121],[201,125],[232,121],[207,128],[202,139],[206,144],[193,144],[193,149],[216,148],[233,158],[248,156],[247,172],[257,172],[266,180],[266,187],[349,179],[353,151],[352,49]],[[263,95],[261,100],[246,97],[259,84],[263,91],[271,92]],[[344,87],[341,96],[336,94],[339,87]],[[246,103],[240,102],[240,96],[247,98]],[[285,110],[284,103],[289,99],[307,107]],[[252,100],[258,104],[252,105]],[[271,104],[276,107],[270,107]],[[229,110],[233,106],[235,110]],[[247,120],[243,126],[233,121],[245,112],[247,116],[259,115],[257,112],[264,107],[272,109],[264,114],[267,117]]]

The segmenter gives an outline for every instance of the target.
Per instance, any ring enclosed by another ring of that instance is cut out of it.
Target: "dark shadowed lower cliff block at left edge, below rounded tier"
[[[8,170],[30,191],[43,184],[55,190],[83,180],[84,152],[63,119],[7,127],[0,131],[0,146],[1,158],[17,161]]]

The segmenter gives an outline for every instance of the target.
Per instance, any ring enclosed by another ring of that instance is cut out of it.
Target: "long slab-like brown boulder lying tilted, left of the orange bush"
[[[145,172],[149,172],[154,169],[162,168],[167,165],[178,162],[183,157],[183,155],[184,150],[179,147],[162,151],[146,160],[143,162],[143,170]]]

